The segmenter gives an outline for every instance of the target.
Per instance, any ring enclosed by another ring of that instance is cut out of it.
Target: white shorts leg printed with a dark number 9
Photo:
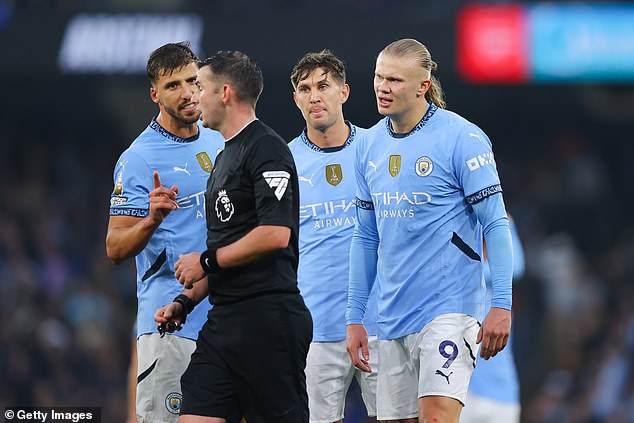
[[[425,326],[412,351],[418,351],[418,396],[453,398],[464,404],[475,368],[479,324],[464,314],[444,314]]]

